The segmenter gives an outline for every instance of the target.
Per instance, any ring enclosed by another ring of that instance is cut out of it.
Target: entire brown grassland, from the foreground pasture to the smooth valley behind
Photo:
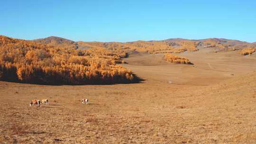
[[[256,55],[132,54],[132,84],[52,86],[0,81],[1,144],[254,144]],[[80,99],[89,99],[82,105]],[[50,105],[29,107],[31,99]]]

